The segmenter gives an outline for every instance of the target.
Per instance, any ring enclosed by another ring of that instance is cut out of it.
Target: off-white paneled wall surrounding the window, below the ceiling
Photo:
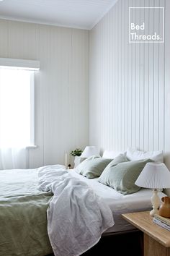
[[[40,60],[28,168],[65,163],[89,144],[89,32],[0,20],[0,56]]]

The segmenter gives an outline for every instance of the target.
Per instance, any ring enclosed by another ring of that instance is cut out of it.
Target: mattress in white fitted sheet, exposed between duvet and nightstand
[[[86,177],[77,174],[73,169],[70,170],[70,174],[86,182],[89,187],[94,189],[97,195],[104,199],[104,202],[107,202],[109,208],[112,210],[115,225],[104,231],[104,234],[135,230],[133,225],[122,218],[122,213],[152,209],[151,196],[153,192],[151,189],[140,189],[140,191],[133,194],[122,195],[115,189],[112,189],[112,187],[98,182],[98,179],[86,179]],[[165,196],[163,192],[158,192],[158,195],[160,198]]]

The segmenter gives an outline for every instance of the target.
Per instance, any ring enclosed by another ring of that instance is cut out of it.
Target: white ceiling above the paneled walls
[[[91,29],[117,0],[0,0],[0,18]]]

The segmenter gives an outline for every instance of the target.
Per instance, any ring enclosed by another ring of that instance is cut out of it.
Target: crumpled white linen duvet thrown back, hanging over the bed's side
[[[54,194],[48,208],[48,235],[55,256],[81,255],[114,225],[109,205],[63,166],[40,168],[39,179],[39,189]]]

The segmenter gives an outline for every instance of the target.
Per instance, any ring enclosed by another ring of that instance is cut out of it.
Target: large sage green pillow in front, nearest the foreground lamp
[[[107,171],[106,185],[114,188],[122,195],[128,195],[140,190],[140,187],[135,185],[136,179],[140,175],[140,172],[146,166],[146,163],[153,162],[151,159],[144,159],[138,161],[129,161],[124,163],[118,163],[116,166],[112,166]]]

